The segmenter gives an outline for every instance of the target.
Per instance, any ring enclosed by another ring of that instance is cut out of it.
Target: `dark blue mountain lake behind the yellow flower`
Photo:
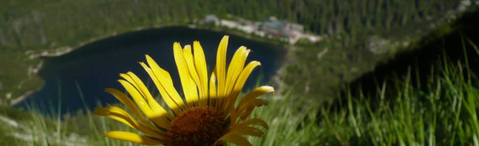
[[[177,41],[184,46],[193,44],[194,40],[200,41],[205,51],[209,74],[216,62],[219,41],[224,35],[187,27],[167,27],[109,37],[65,55],[46,57],[44,67],[39,72],[45,81],[43,88],[30,95],[17,107],[26,108],[34,105],[40,111],[61,109],[62,113],[65,113],[83,109],[85,106],[93,109],[98,106],[98,102],[102,105],[116,103],[117,100],[104,92],[104,89],[111,87],[124,91],[116,80],[120,78],[119,73],[128,71],[136,73],[147,86],[150,85],[150,91],[157,94],[158,91],[148,74],[138,64],[140,61],[146,62],[146,54],[152,56],[160,67],[170,72],[174,86],[180,90],[180,80],[173,57],[173,43]],[[245,89],[253,88],[258,81],[267,83],[282,64],[284,49],[230,35],[228,62],[241,45],[253,51],[248,57],[248,62],[252,60],[261,62],[261,66],[249,78]]]

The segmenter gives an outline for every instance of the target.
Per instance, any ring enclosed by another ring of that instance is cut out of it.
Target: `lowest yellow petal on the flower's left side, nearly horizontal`
[[[137,143],[137,144],[143,144],[143,145],[160,145],[164,144],[164,142],[155,140],[152,138],[148,138],[145,136],[141,136],[135,133],[131,132],[126,132],[126,131],[110,131],[105,133],[105,136],[112,138],[112,139],[117,139],[117,140],[122,140],[122,141],[128,141],[132,143]]]

